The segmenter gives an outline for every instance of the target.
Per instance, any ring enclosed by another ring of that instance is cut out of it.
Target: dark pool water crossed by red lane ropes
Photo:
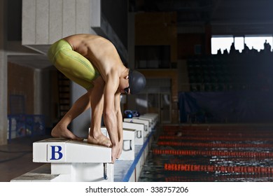
[[[139,181],[273,181],[273,128],[162,126]]]

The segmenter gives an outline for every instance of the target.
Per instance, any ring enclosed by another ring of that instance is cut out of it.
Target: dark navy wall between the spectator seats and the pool
[[[271,123],[271,90],[180,92],[181,123]]]

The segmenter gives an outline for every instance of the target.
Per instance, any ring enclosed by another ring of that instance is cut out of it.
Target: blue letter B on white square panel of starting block
[[[65,145],[64,144],[48,144],[48,162],[64,162],[65,161]]]

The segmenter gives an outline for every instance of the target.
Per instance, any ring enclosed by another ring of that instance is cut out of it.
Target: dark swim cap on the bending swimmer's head
[[[145,76],[139,71],[130,69],[129,71],[129,87],[130,94],[137,94],[144,89],[146,85]]]

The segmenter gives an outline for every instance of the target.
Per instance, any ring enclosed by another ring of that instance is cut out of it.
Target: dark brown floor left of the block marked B
[[[10,141],[10,144],[0,146],[0,182],[8,182],[44,163],[32,162],[32,143],[48,138],[19,138]]]

